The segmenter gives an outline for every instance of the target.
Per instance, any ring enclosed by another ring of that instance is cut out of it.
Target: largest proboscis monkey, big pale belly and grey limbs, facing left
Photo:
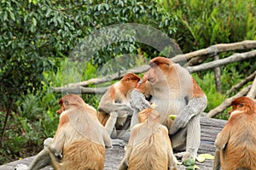
[[[142,111],[154,103],[160,112],[160,122],[169,130],[172,149],[185,150],[179,153],[183,161],[195,160],[201,140],[200,113],[207,107],[207,97],[189,71],[170,59],[156,57],[149,65],[143,84],[131,92],[131,106]],[[148,103],[145,97],[149,97]],[[169,115],[177,115],[174,122]],[[131,122],[137,122],[137,114]],[[134,124],[131,123],[131,127]]]

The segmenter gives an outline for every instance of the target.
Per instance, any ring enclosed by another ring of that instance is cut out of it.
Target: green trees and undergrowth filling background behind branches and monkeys
[[[58,122],[55,111],[61,94],[55,94],[52,87],[77,81],[63,72],[67,71],[70,54],[75,54],[73,48],[83,44],[84,37],[96,31],[101,33],[105,26],[139,23],[165,32],[176,40],[183,53],[188,53],[220,42],[256,40],[255,8],[253,0],[1,1],[0,164],[35,155],[42,149],[43,140],[55,133]],[[105,32],[112,38],[127,34],[129,41],[113,42],[93,51],[86,69],[79,72],[82,77],[79,80],[97,77],[99,70],[104,72],[108,60],[121,54],[149,59],[166,54],[166,50],[167,54],[179,53],[166,48],[157,51],[135,38],[146,39],[154,32],[134,35],[131,31]],[[223,94],[216,92],[212,71],[194,74],[209,99],[207,111],[226,98],[224,92],[230,86],[255,69],[255,59],[222,67]],[[86,94],[83,98],[97,106],[95,95]]]

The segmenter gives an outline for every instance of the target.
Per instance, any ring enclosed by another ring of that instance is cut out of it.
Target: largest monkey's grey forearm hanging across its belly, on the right
[[[178,129],[186,127],[189,120],[202,111],[204,111],[207,107],[207,96],[203,95],[199,98],[193,98],[189,100],[188,105],[180,111],[172,123],[172,127],[170,128],[169,133],[174,134],[177,133]]]

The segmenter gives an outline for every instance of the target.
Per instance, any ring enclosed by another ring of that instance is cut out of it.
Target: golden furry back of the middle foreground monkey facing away
[[[168,167],[168,143],[165,138],[166,127],[159,127],[142,142],[133,144],[129,158],[129,170],[158,170]],[[130,146],[128,146],[130,147]]]

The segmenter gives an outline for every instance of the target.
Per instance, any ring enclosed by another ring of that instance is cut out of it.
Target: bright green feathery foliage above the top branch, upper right
[[[159,0],[166,11],[177,15],[177,39],[183,53],[216,43],[256,39],[254,0]]]

